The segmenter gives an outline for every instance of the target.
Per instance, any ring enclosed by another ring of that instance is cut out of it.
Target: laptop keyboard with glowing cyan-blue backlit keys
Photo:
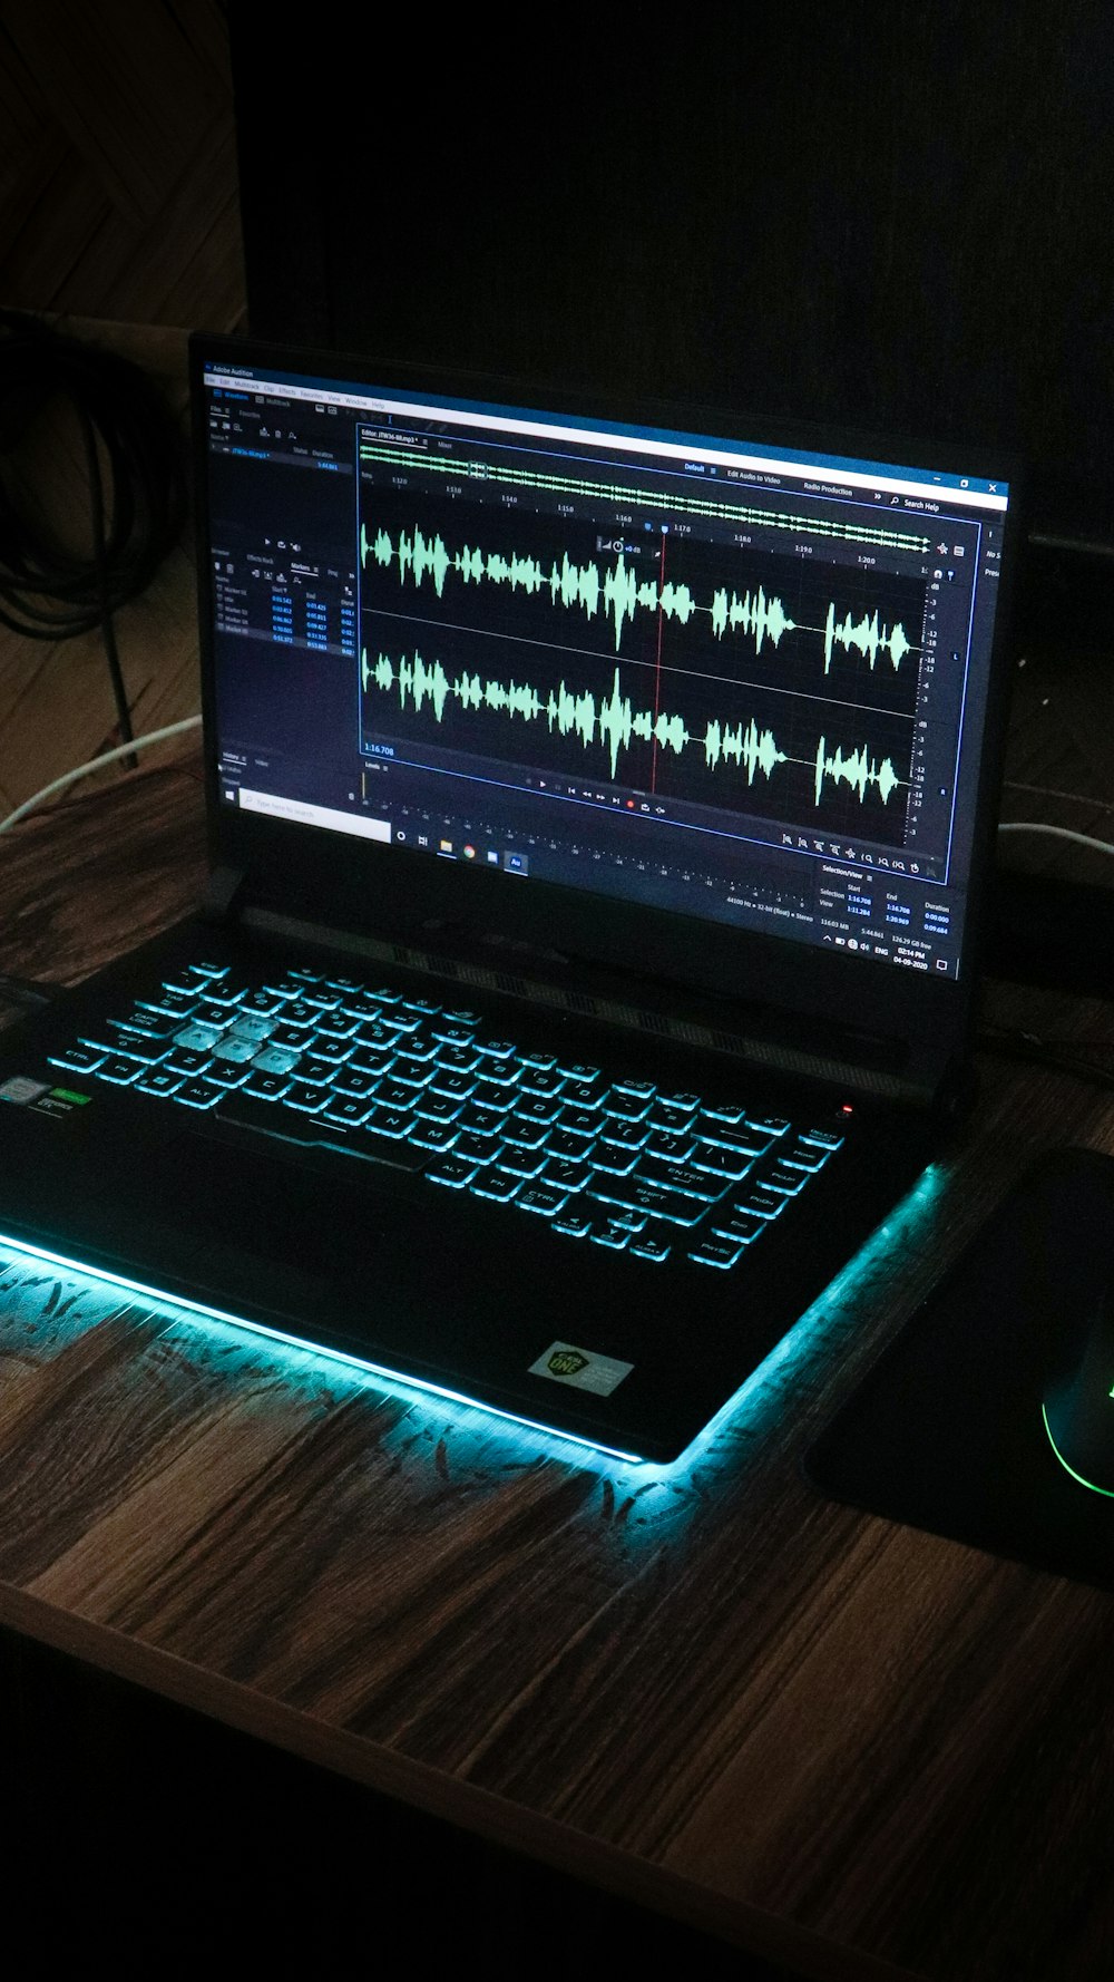
[[[842,1144],[739,1104],[521,1050],[452,1011],[289,969],[190,965],[56,1066],[343,1150],[648,1265],[731,1268]]]

